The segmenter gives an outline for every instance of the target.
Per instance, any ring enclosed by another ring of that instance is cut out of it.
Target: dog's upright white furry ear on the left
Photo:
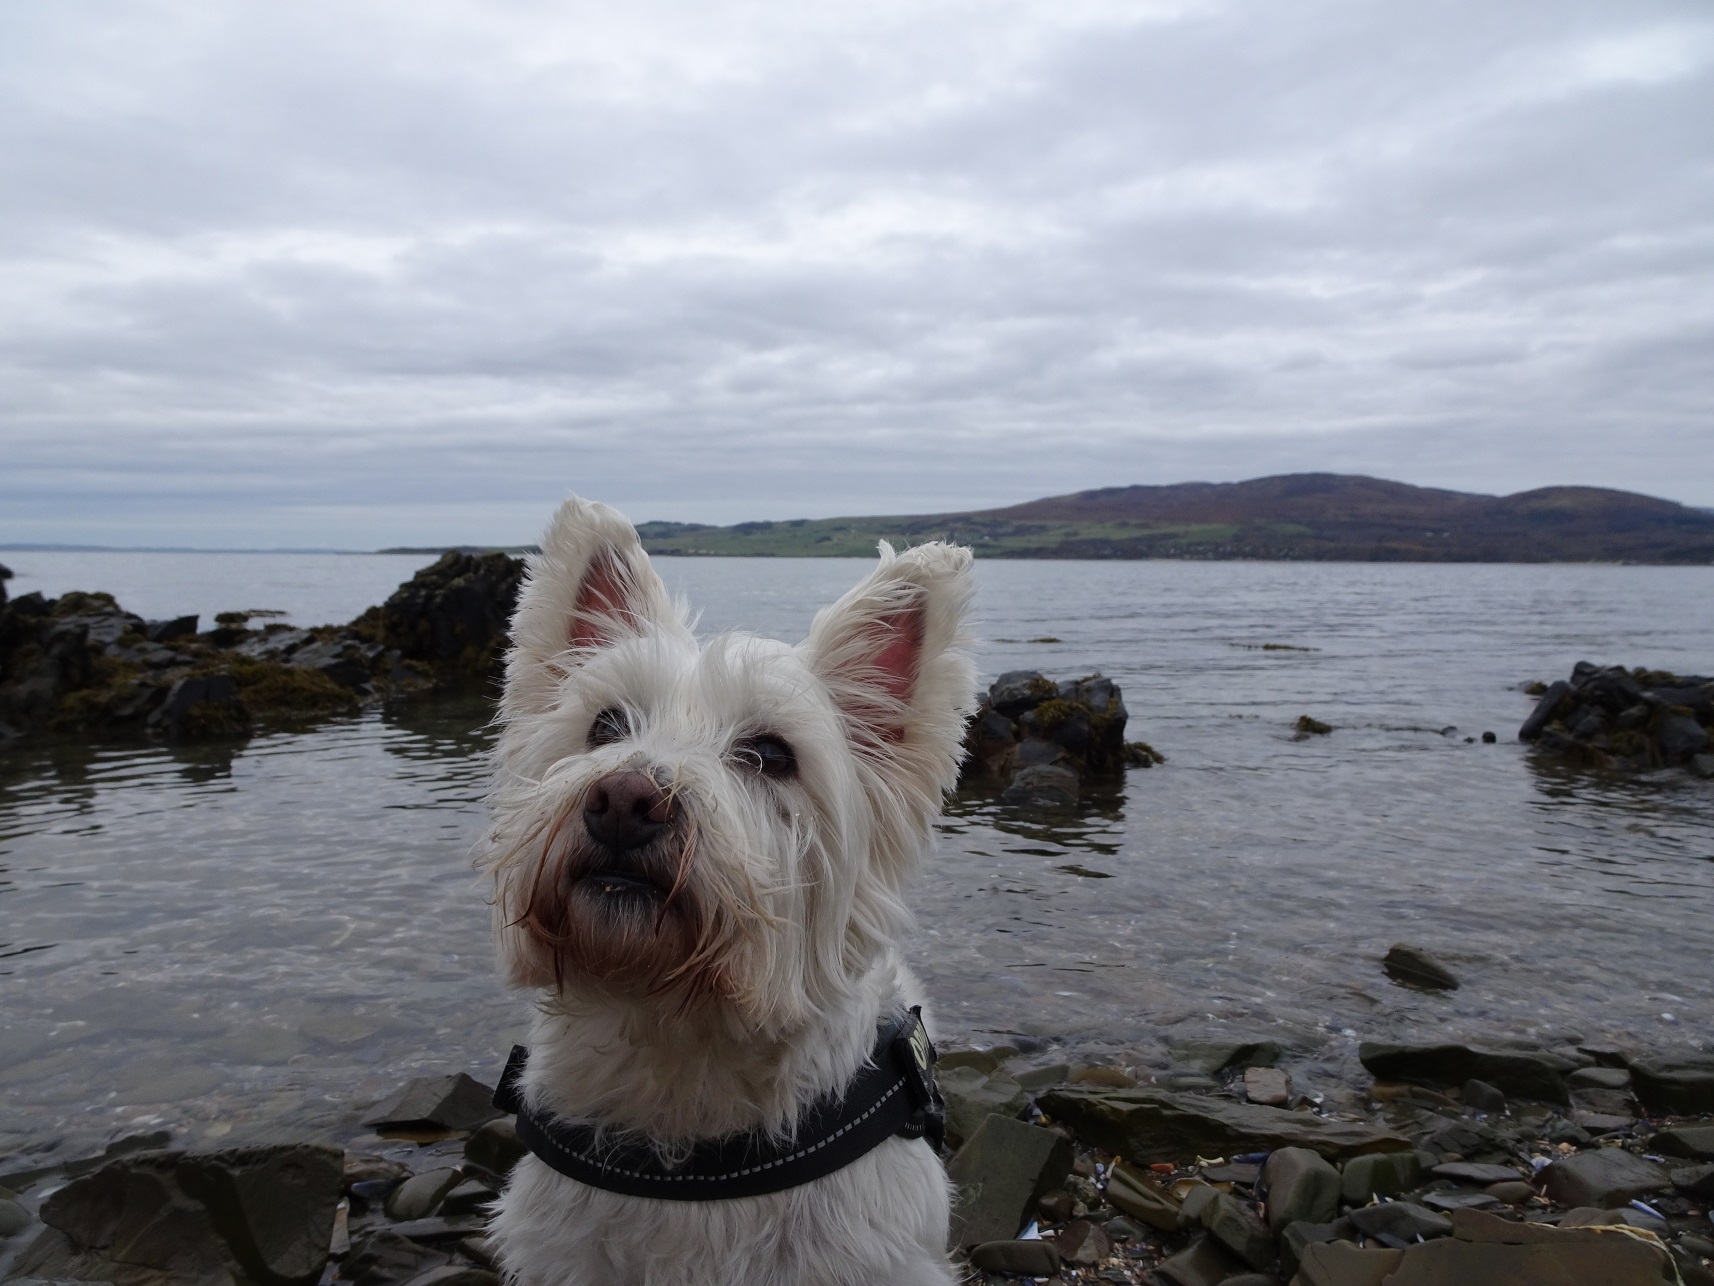
[[[682,612],[617,509],[572,496],[528,559],[506,658],[506,713],[552,706],[591,653],[648,633],[689,633]]]

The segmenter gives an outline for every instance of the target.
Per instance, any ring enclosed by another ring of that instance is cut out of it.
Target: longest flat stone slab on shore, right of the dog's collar
[[[1049,1091],[1040,1106],[1085,1142],[1138,1161],[1270,1152],[1277,1147],[1308,1147],[1335,1159],[1411,1145],[1366,1121],[1330,1121],[1311,1113],[1159,1089],[1068,1085]]]

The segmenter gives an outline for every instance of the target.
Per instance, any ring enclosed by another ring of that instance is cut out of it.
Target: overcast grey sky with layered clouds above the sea
[[[1714,506],[1707,0],[0,10],[0,540]]]

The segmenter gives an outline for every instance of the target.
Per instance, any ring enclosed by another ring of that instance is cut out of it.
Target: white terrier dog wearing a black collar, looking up
[[[967,549],[883,544],[799,646],[699,646],[631,525],[560,508],[485,838],[502,967],[540,995],[500,1091],[533,1152],[492,1223],[512,1281],[955,1281],[900,941],[975,691],[968,602]]]

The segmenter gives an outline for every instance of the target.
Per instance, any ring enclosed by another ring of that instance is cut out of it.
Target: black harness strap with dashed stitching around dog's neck
[[[920,1007],[884,1024],[869,1061],[845,1092],[812,1103],[783,1142],[759,1130],[704,1139],[675,1166],[662,1164],[643,1135],[596,1133],[591,1125],[531,1108],[521,1084],[528,1058],[524,1046],[512,1046],[494,1106],[518,1115],[518,1139],[545,1164],[591,1188],[627,1197],[675,1202],[761,1197],[831,1175],[893,1135],[927,1139],[938,1149],[946,1133],[946,1104],[934,1087],[934,1046],[922,1027]]]

